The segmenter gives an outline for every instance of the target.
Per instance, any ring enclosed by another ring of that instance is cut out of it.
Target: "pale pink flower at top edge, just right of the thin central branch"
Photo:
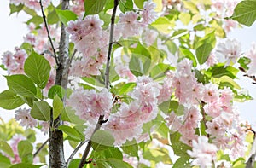
[[[144,2],[143,8],[143,24],[148,25],[157,18],[156,12],[154,11],[156,4],[152,0],[148,0]]]

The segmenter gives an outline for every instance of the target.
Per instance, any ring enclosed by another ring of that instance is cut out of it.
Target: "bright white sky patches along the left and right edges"
[[[23,42],[23,36],[26,34],[26,24],[23,22],[28,19],[27,15],[23,12],[20,14],[12,14],[9,16],[9,1],[0,0],[0,55],[3,55],[4,51],[14,51],[15,46],[20,46]],[[241,48],[246,51],[250,48],[251,42],[256,42],[256,24],[254,23],[251,27],[244,29],[237,29],[228,35],[229,38],[237,38],[241,42]],[[3,75],[6,74],[0,69],[0,92],[7,89],[7,84]],[[252,80],[249,78],[239,76],[240,80],[237,82],[249,91],[250,95],[256,98],[256,84],[252,84]],[[256,128],[256,101],[246,101],[244,103],[236,103],[241,116],[249,121]],[[14,112],[6,111],[0,108],[0,117],[4,120],[9,120],[14,117]]]

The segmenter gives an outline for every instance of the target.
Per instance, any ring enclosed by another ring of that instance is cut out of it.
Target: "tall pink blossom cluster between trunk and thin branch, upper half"
[[[106,61],[108,49],[108,32],[102,29],[103,21],[98,15],[86,16],[84,20],[69,21],[67,32],[75,49],[82,54],[70,70],[73,76],[84,77],[99,75],[102,64]]]

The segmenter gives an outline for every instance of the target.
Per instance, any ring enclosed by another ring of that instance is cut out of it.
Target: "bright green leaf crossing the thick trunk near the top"
[[[65,26],[67,26],[68,21],[78,19],[77,14],[73,13],[71,10],[55,9],[55,11],[59,16],[59,19]]]

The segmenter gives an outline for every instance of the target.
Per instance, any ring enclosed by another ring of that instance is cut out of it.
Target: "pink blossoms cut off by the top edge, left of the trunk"
[[[36,11],[40,11],[40,3],[39,0],[10,0],[10,3],[15,4],[16,6],[20,4],[24,4],[29,9],[34,9]],[[50,0],[42,0],[44,8],[49,6]]]

